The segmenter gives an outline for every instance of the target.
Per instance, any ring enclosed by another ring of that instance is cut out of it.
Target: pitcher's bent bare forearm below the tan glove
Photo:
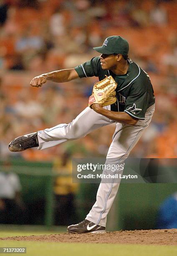
[[[135,120],[132,118],[129,114],[125,112],[114,112],[111,110],[106,110],[102,108],[102,104],[93,104],[92,109],[101,115],[106,116],[107,118],[119,122],[119,123],[124,123],[124,124],[129,124],[129,125],[136,125],[138,120]]]

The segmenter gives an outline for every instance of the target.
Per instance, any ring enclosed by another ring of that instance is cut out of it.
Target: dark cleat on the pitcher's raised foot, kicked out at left
[[[38,147],[38,133],[30,133],[18,138],[15,138],[9,144],[9,150],[12,152],[20,152],[28,148]]]

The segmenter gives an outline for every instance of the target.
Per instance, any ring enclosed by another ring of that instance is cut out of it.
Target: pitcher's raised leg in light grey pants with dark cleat
[[[109,110],[110,106],[104,107]],[[15,138],[9,144],[13,152],[24,151],[28,148],[50,148],[68,140],[86,136],[99,127],[114,123],[109,118],[96,113],[91,108],[83,110],[71,123],[62,123],[55,127]]]

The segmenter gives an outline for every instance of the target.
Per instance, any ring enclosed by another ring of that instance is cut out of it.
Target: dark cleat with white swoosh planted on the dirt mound
[[[83,220],[82,222],[76,224],[76,225],[71,225],[68,226],[67,231],[69,233],[78,233],[78,234],[83,234],[83,233],[94,233],[94,234],[99,234],[99,233],[106,233],[105,227],[96,225],[95,223],[89,221],[89,220]]]

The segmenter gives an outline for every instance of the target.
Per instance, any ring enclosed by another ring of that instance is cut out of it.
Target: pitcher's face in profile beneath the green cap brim
[[[101,54],[100,62],[102,69],[112,69],[118,64],[117,55],[115,54]]]

